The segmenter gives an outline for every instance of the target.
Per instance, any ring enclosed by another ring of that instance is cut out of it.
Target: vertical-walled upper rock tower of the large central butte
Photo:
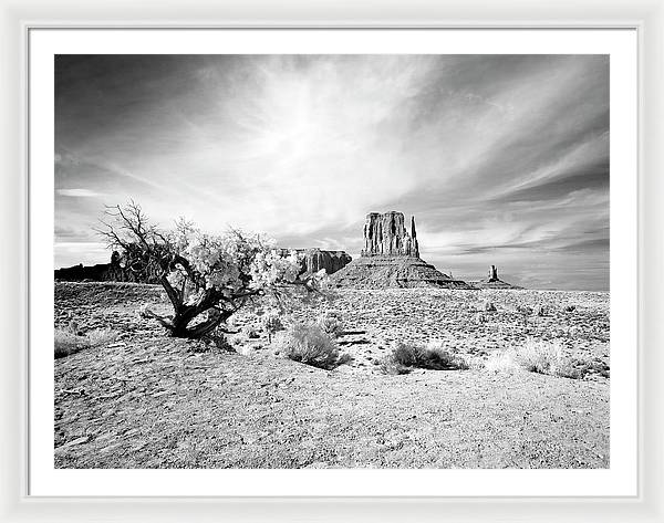
[[[364,223],[363,257],[419,258],[415,217],[411,218],[411,233],[406,231],[402,212],[370,212]]]

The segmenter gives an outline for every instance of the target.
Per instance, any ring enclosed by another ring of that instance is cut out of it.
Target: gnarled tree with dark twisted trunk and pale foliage
[[[320,274],[304,278],[299,260],[277,254],[258,236],[238,230],[207,236],[181,219],[175,230],[162,231],[134,201],[107,207],[101,223],[97,233],[110,248],[123,250],[129,270],[158,268],[174,314],[162,316],[147,307],[142,313],[172,336],[208,335],[251,299],[267,293],[283,299],[288,285],[319,291]]]

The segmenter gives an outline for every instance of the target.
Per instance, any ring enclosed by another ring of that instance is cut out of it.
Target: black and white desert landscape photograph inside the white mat
[[[54,467],[609,469],[609,85],[56,54]]]

